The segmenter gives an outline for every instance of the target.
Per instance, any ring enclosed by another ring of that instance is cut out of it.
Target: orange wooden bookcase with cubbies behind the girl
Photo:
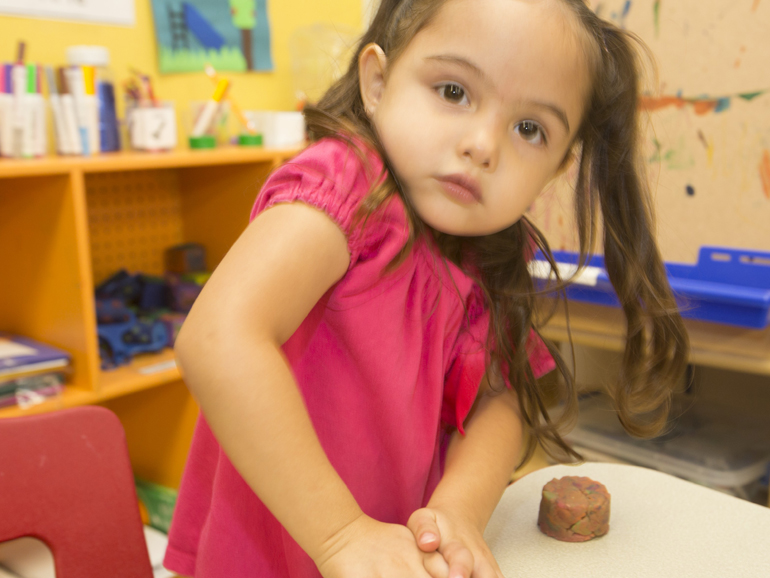
[[[219,149],[0,161],[0,329],[69,351],[57,398],[0,418],[101,404],[126,429],[135,473],[177,487],[197,406],[171,350],[102,371],[94,287],[116,270],[159,275],[163,250],[202,243],[213,269],[266,176],[296,150]]]

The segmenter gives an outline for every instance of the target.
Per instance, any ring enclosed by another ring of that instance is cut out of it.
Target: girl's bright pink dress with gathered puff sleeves
[[[345,232],[350,267],[313,308],[284,351],[331,463],[363,511],[405,524],[442,473],[447,434],[462,431],[485,372],[488,314],[475,284],[418,241],[404,247],[403,202],[394,196],[366,227],[352,220],[382,169],[324,139],[276,170],[251,218],[302,201]],[[542,342],[536,375],[553,369]],[[312,560],[225,456],[205,419],[197,424],[169,534],[165,566],[195,577],[318,577]]]

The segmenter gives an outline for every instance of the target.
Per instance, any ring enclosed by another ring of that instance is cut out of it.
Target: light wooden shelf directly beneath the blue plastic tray
[[[770,328],[745,329],[685,319],[690,336],[690,362],[733,371],[770,375]],[[575,343],[621,351],[625,320],[620,309],[572,301],[569,327]],[[553,341],[567,341],[567,318],[560,305],[543,330]]]

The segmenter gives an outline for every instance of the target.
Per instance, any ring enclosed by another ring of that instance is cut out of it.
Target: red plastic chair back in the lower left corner
[[[0,542],[31,536],[56,578],[152,578],[123,427],[84,406],[0,419]]]

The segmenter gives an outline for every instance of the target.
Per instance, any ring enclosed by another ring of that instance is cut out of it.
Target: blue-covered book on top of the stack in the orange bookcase
[[[70,365],[66,351],[29,337],[0,332],[0,382],[41,375]]]

